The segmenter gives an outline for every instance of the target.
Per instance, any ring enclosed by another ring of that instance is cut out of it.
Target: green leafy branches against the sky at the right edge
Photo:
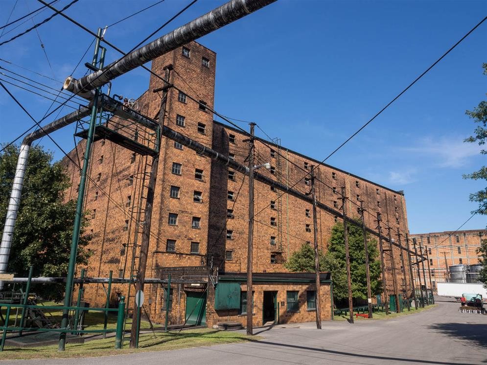
[[[484,75],[487,75],[487,63],[483,64],[482,68],[484,68]],[[473,111],[467,110],[465,114],[472,118],[475,123],[478,123],[478,125],[474,130],[474,135],[466,138],[464,141],[478,143],[481,146],[485,145],[487,141],[487,101],[482,100]],[[487,155],[487,150],[482,149],[480,153]],[[464,179],[487,181],[487,167],[482,166],[478,171],[465,174]],[[487,187],[470,194],[470,201],[479,204],[479,208],[476,210],[477,213],[487,214]]]

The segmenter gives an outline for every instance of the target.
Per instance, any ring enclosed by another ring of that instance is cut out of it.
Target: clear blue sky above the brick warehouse
[[[96,31],[154,2],[80,0],[66,14]],[[109,28],[106,39],[129,50],[188,2],[166,0]],[[158,36],[223,2],[198,1]],[[0,24],[6,23],[14,3],[0,1]],[[67,3],[60,0],[55,6]],[[19,0],[10,21],[39,6],[37,1]],[[40,22],[50,14],[45,10],[33,20]],[[255,121],[271,137],[281,138],[283,146],[323,160],[486,14],[486,1],[279,0],[199,42],[217,52],[215,110]],[[13,26],[5,28],[1,41],[29,26],[31,21],[10,33]],[[52,70],[35,31],[1,46],[0,57],[62,81],[93,40],[60,16],[38,31]],[[463,139],[474,129],[465,110],[486,98],[487,77],[481,68],[487,62],[486,45],[487,22],[327,160],[404,190],[412,233],[458,228],[476,208],[468,194],[485,187],[485,182],[463,180],[462,174],[485,164],[480,147]],[[91,55],[92,49],[82,64]],[[107,51],[108,62],[118,57],[116,51]],[[0,65],[55,89],[61,86],[18,66]],[[81,65],[74,76],[85,72]],[[138,68],[117,78],[113,90],[137,97],[148,79],[147,71]],[[51,104],[6,86],[37,120]],[[70,111],[64,108],[61,115]],[[32,124],[0,91],[0,142],[11,141]],[[73,148],[73,131],[67,127],[53,134],[66,151]],[[56,159],[62,158],[47,138],[41,143]],[[476,216],[464,229],[485,226],[486,217]]]

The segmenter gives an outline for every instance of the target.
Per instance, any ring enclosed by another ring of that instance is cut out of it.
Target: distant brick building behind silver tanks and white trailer
[[[477,249],[480,247],[481,241],[487,239],[487,230],[472,229],[415,233],[411,235],[411,239],[416,240],[418,250],[421,245],[423,252],[427,251],[428,253],[431,278],[427,263],[425,263],[426,287],[428,289],[433,288],[433,292],[436,292],[436,284],[438,282],[452,281],[451,272],[463,273],[465,274],[464,282],[470,281],[469,274],[472,272],[472,276],[474,276],[473,273],[475,271],[475,268],[472,268],[472,266],[478,266],[479,264],[480,256],[477,254]],[[451,268],[452,266],[455,267]],[[413,270],[413,273],[418,283],[417,270]],[[421,284],[425,285],[422,268],[420,274]],[[457,280],[455,274],[453,276],[453,281]],[[463,275],[460,274],[460,276]],[[458,280],[462,280],[460,276]]]

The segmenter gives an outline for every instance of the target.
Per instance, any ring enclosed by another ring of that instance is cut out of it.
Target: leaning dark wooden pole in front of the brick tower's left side
[[[165,68],[165,86],[162,87],[162,99],[161,99],[161,111],[159,114],[159,124],[160,128],[164,125],[165,109],[167,103],[167,92],[172,85],[169,84],[170,72],[172,70],[172,65],[166,66]],[[158,146],[161,146],[161,134],[159,134],[159,139],[157,141]],[[160,150],[160,148],[159,148]],[[137,282],[135,283],[135,293],[143,292],[144,281],[145,281],[145,270],[147,267],[147,255],[149,252],[149,239],[150,239],[150,228],[151,228],[151,218],[152,218],[152,206],[154,203],[154,189],[156,186],[157,179],[157,168],[159,165],[159,150],[156,155],[152,157],[152,168],[149,176],[149,185],[147,186],[147,197],[145,200],[145,212],[144,212],[144,224],[142,227],[142,239],[140,241],[140,257],[139,257],[139,268],[137,271]],[[130,273],[132,275],[132,273]],[[167,288],[170,291],[170,288]],[[140,306],[141,307],[141,306]],[[132,314],[132,327],[130,329],[130,347],[136,348],[139,346],[139,331],[140,331],[140,320],[139,320],[139,306],[137,301],[134,300],[134,312]]]

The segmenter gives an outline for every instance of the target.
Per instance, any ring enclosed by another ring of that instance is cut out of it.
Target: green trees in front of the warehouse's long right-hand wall
[[[377,242],[367,235],[372,296],[382,293],[380,261]],[[362,228],[348,225],[348,246],[350,252],[350,272],[354,298],[367,299],[367,279],[365,271],[365,248]],[[347,266],[345,261],[345,239],[343,223],[337,223],[331,230],[328,251],[319,251],[320,271],[329,271],[333,281],[333,300],[348,297]],[[284,263],[291,272],[313,273],[315,252],[310,244],[304,243],[300,250],[291,254]]]

